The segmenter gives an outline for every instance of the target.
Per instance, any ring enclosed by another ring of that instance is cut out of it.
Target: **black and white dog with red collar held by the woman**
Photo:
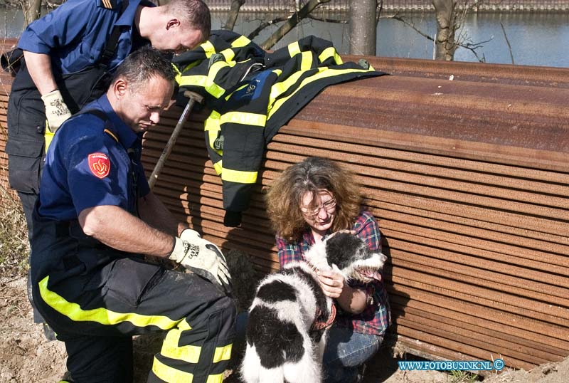
[[[249,309],[241,375],[247,383],[321,382],[326,331],[334,304],[322,291],[316,270],[334,268],[346,280],[379,278],[386,257],[357,236],[337,233],[260,282]]]

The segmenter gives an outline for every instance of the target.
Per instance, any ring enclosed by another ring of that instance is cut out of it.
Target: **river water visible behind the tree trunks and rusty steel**
[[[400,14],[428,36],[435,36],[437,26],[432,13],[415,12]],[[213,28],[220,28],[225,13],[212,15]],[[235,31],[248,34],[258,24],[263,14],[241,14]],[[0,38],[14,38],[21,33],[23,16],[15,9],[0,9]],[[480,13],[469,14],[459,30],[463,41],[481,43],[477,55],[487,63],[511,63],[511,56],[504,32],[511,45],[514,63],[519,65],[542,65],[569,67],[569,13]],[[255,41],[262,43],[277,26],[266,28]],[[274,48],[303,36],[319,36],[330,40],[339,53],[349,51],[349,25],[304,21],[294,28]],[[378,23],[377,55],[403,58],[432,58],[432,41],[420,36],[400,21],[381,19]],[[478,61],[468,49],[458,48],[454,55],[457,61]]]

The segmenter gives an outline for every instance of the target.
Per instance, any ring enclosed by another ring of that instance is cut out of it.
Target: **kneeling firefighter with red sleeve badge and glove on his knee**
[[[76,382],[132,382],[132,335],[168,331],[149,382],[221,382],[234,337],[225,259],[149,190],[142,132],[159,122],[174,70],[151,48],[119,65],[106,95],[63,123],[33,211],[38,310]],[[169,258],[194,273],[143,256]]]

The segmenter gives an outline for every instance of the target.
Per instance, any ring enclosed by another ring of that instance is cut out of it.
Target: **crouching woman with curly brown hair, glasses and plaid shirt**
[[[380,251],[378,224],[362,201],[353,174],[330,159],[309,157],[285,169],[267,193],[281,267],[304,260],[310,246],[340,230]],[[387,293],[381,278],[362,284],[336,271],[319,271],[319,280],[338,309],[324,351],[324,382],[359,382],[390,323]]]

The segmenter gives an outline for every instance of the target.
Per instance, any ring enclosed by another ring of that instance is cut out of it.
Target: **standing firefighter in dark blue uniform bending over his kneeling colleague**
[[[25,62],[12,84],[6,153],[30,237],[46,147],[61,123],[105,92],[132,51],[150,43],[179,53],[208,38],[210,29],[201,0],[159,7],[148,0],[68,0],[28,25],[18,41]],[[36,313],[34,319],[41,322]]]

